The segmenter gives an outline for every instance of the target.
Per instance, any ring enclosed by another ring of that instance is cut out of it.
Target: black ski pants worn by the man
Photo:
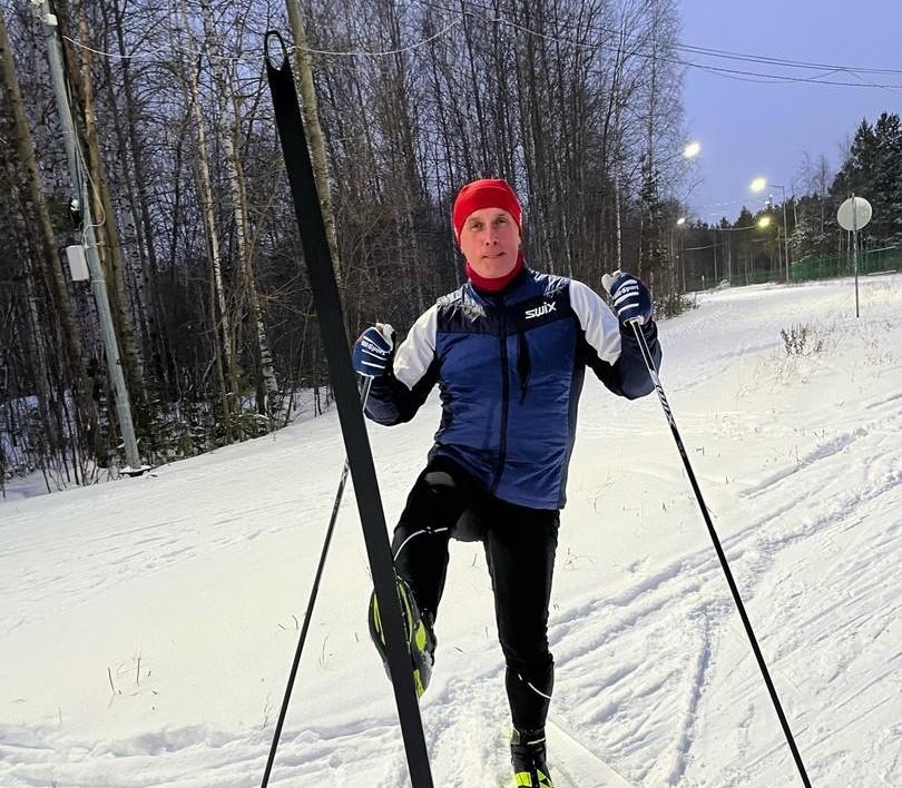
[[[395,569],[421,612],[432,618],[444,590],[449,540],[482,540],[507,661],[508,700],[520,730],[543,728],[551,700],[548,604],[558,523],[557,510],[499,501],[458,464],[437,457],[413,485],[394,530]]]

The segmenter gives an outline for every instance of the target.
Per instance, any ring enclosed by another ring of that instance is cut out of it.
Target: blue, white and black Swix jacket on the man
[[[655,323],[643,331],[657,365]],[[410,421],[438,382],[430,459],[455,461],[503,501],[560,509],[586,366],[620,396],[654,390],[636,337],[597,293],[527,268],[501,293],[468,283],[423,313],[373,381],[366,415]]]

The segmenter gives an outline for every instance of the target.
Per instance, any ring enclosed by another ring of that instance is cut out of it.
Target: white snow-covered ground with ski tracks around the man
[[[781,329],[808,324],[788,357]],[[661,324],[661,380],[812,784],[902,786],[902,276],[753,287]],[[438,423],[371,425],[398,516]],[[342,467],[333,415],[0,504],[0,785],[259,784]],[[438,786],[497,788],[479,545],[453,544],[422,713]],[[660,405],[587,380],[557,561],[561,785],[801,785]],[[349,493],[272,785],[408,785]],[[467,778],[460,777],[465,774]],[[612,785],[612,782],[610,782]]]

